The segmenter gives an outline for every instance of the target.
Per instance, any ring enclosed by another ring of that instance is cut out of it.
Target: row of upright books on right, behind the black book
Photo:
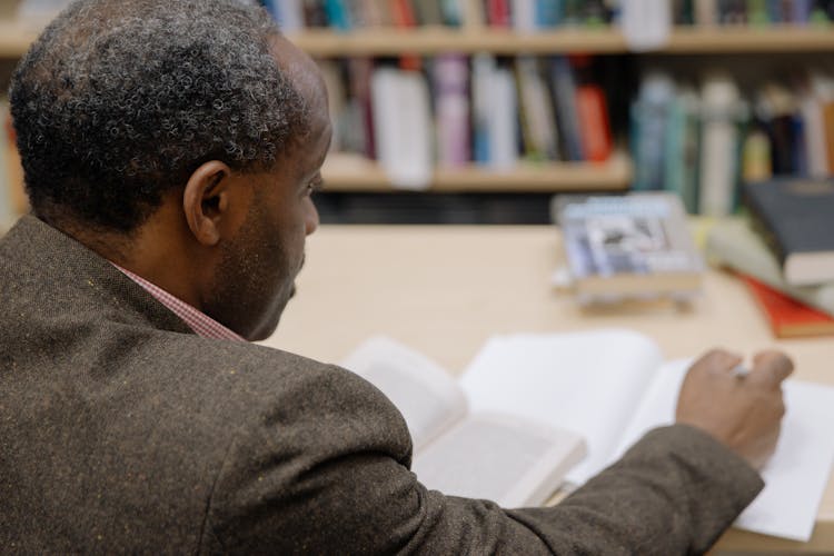
[[[834,175],[834,77],[795,71],[748,98],[728,75],[699,87],[644,77],[632,105],[636,190],[674,191],[687,211],[727,216],[743,181]]]

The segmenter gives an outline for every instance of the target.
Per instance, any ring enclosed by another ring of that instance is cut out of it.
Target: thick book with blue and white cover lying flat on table
[[[552,214],[580,302],[688,299],[699,291],[704,262],[676,195],[555,197]]]

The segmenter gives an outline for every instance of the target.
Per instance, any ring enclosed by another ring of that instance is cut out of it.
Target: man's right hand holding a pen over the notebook
[[[781,351],[763,351],[747,375],[737,355],[715,349],[689,368],[677,400],[677,423],[706,430],[761,469],[776,449],[785,414],[782,381],[794,365]]]

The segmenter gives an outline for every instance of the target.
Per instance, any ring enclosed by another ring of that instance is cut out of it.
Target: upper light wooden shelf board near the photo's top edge
[[[42,23],[0,21],[0,57],[21,56]],[[413,31],[373,29],[340,33],[312,29],[291,36],[312,56],[399,56],[403,52],[625,53],[628,46],[617,29],[558,29],[537,33],[480,28],[419,28]],[[826,27],[679,27],[658,53],[756,53],[834,50],[834,30]]]

